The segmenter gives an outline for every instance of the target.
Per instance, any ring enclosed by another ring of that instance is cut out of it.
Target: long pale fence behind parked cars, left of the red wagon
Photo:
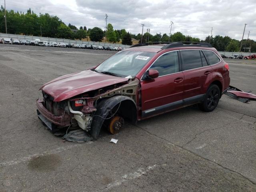
[[[27,36],[27,35],[14,35],[14,34],[5,34],[0,33],[0,38],[12,38],[14,39],[25,39],[25,40],[35,40],[40,39],[42,41],[48,42],[64,42],[70,44],[88,44],[88,45],[100,45],[100,46],[116,46],[116,47],[124,47],[128,48],[129,45],[122,45],[122,44],[113,44],[113,43],[104,43],[104,42],[92,42],[92,41],[80,41],[80,40],[70,40],[70,39],[59,39],[59,38],[48,38],[48,37],[37,37],[37,36]]]

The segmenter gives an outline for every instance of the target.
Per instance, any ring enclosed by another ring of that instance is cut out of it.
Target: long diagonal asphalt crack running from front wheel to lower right
[[[160,139],[162,139],[162,140],[164,140],[164,141],[166,141],[166,142],[168,142],[168,143],[171,143],[171,144],[173,144],[174,146],[177,146],[177,147],[179,147],[179,148],[182,148],[183,150],[186,150],[186,151],[188,151],[188,152],[190,152],[190,153],[192,153],[192,154],[194,154],[194,155],[196,155],[196,156],[198,156],[198,157],[200,157],[200,158],[203,158],[203,159],[208,160],[208,161],[210,161],[210,162],[212,162],[212,163],[214,163],[214,164],[217,164],[218,166],[220,166],[220,167],[222,167],[222,168],[224,168],[224,169],[226,169],[226,170],[229,170],[230,172],[234,172],[234,173],[236,173],[236,174],[239,174],[240,176],[242,176],[243,178],[245,178],[246,180],[248,180],[248,181],[251,182],[252,184],[256,185],[256,182],[250,180],[249,178],[247,178],[246,176],[242,175],[242,174],[239,173],[239,172],[236,172],[236,171],[234,171],[234,170],[231,170],[230,168],[224,167],[224,166],[222,166],[221,164],[219,164],[219,163],[217,163],[217,162],[214,162],[214,161],[212,161],[212,160],[210,160],[210,159],[208,159],[208,158],[205,158],[205,157],[203,157],[203,156],[200,156],[200,155],[196,154],[195,152],[193,152],[193,151],[191,151],[191,150],[189,150],[189,149],[184,148],[183,146],[174,144],[174,143],[172,143],[172,142],[166,140],[165,138],[162,138],[162,137],[160,137],[160,136],[158,136],[158,135],[156,135],[156,134],[153,134],[153,133],[149,132],[148,130],[146,130],[146,129],[142,128],[142,127],[139,127],[138,125],[135,125],[135,126],[138,127],[138,128],[140,128],[141,130],[144,130],[145,132],[147,132],[148,134],[150,134],[150,135],[152,135],[152,136],[155,136],[155,137],[157,137],[157,138],[160,138]]]

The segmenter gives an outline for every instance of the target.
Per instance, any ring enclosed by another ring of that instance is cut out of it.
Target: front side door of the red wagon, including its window
[[[184,75],[178,51],[162,54],[149,69],[159,72],[154,79],[141,80],[142,118],[182,106]]]

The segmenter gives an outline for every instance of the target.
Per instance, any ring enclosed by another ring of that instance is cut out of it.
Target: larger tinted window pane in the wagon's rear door
[[[182,58],[182,70],[190,70],[202,67],[202,60],[199,50],[180,50]]]

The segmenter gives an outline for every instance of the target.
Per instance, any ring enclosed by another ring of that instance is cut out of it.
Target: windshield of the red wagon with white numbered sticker
[[[134,77],[154,55],[156,53],[142,51],[118,52],[102,62],[95,70],[96,72],[116,74],[120,77]]]

